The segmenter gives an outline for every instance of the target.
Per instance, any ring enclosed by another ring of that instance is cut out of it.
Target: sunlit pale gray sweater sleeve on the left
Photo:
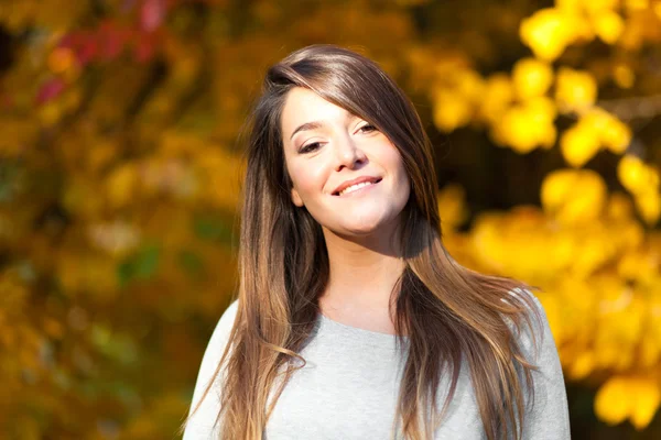
[[[237,315],[238,301],[234,301],[223,314],[218,320],[216,328],[212,334],[209,343],[204,352],[202,365],[197,375],[195,391],[193,392],[193,400],[191,404],[191,413],[197,406],[207,385],[213,378],[216,367],[220,362],[220,356],[225,351],[225,345],[229,339],[229,332],[234,326]],[[197,411],[191,417],[184,430],[183,440],[210,440],[218,439],[219,426],[216,424],[216,418],[220,410],[220,389],[219,381],[216,381],[215,386],[209,389]]]

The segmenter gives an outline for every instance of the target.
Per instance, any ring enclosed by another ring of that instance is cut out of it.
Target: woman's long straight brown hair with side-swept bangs
[[[524,323],[533,333],[530,310],[541,318],[532,297],[516,293],[531,287],[476,273],[452,258],[442,242],[432,146],[413,105],[376,63],[332,45],[304,47],[269,68],[252,113],[238,310],[210,382],[223,378],[220,438],[262,439],[278,397],[300,367],[292,361],[302,360],[299,352],[314,329],[328,282],[321,226],[291,200],[281,113],[294,87],[373,124],[399,150],[411,182],[400,226],[405,268],[393,289],[399,346],[404,333],[409,338],[395,425],[408,439],[432,439],[465,360],[487,438],[520,439],[530,403],[524,389],[532,391],[537,367],[523,356],[513,330]],[[438,411],[441,374],[452,381]]]

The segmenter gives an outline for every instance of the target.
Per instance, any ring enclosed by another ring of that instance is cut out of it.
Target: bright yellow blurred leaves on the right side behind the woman
[[[661,3],[559,0],[522,20],[519,35],[533,56],[511,74],[451,67],[432,82],[435,122],[479,124],[523,154],[557,145],[566,167],[544,176],[541,209],[480,215],[462,252],[483,271],[542,286],[565,374],[599,386],[603,420],[642,429],[661,402],[659,143],[640,128],[659,100],[644,64],[659,55]],[[598,101],[602,91],[611,98]],[[619,157],[610,194],[585,168],[604,150]]]

